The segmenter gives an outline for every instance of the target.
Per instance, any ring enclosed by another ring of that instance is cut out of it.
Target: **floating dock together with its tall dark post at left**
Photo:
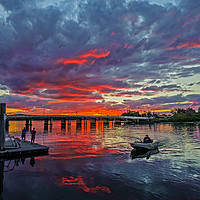
[[[27,156],[47,155],[49,147],[29,141],[20,141],[10,135],[5,135],[6,104],[0,104],[0,160],[21,158]]]

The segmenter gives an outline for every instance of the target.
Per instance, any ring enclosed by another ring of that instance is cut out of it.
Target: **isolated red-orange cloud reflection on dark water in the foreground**
[[[73,185],[79,186],[82,190],[88,193],[97,193],[98,191],[103,191],[107,193],[111,193],[110,189],[107,186],[99,186],[96,187],[88,187],[86,186],[83,178],[81,176],[74,178],[73,176],[70,177],[62,177],[61,183],[59,185]]]

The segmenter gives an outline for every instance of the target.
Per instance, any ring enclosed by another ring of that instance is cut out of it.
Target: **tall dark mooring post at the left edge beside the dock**
[[[5,119],[6,104],[0,104],[0,151],[5,150]]]

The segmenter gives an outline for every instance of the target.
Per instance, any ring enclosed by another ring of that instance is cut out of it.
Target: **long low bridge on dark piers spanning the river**
[[[48,130],[48,126],[52,127],[53,121],[61,121],[61,129],[66,128],[66,123],[76,121],[77,125],[82,122],[90,121],[96,124],[96,121],[103,121],[104,124],[113,122],[115,124],[140,124],[149,123],[153,117],[135,117],[135,116],[81,116],[81,115],[7,115],[6,129],[8,130],[9,121],[25,121],[27,130],[31,130],[32,121],[44,121],[44,130]]]

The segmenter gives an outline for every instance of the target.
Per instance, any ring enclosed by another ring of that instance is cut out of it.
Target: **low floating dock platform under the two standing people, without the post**
[[[20,144],[6,145],[4,151],[0,151],[0,160],[12,158],[21,158],[27,156],[48,155],[49,147],[37,143],[31,144],[29,141],[20,142]]]

